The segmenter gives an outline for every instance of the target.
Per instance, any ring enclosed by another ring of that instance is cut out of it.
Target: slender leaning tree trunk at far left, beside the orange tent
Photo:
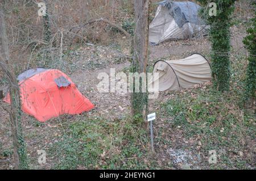
[[[6,35],[5,21],[3,11],[0,9],[0,38],[1,38],[1,52],[0,52],[0,68],[5,73],[5,77],[9,84],[11,108],[10,123],[11,132],[13,136],[14,146],[14,168],[15,169],[27,169],[27,153],[26,144],[24,142],[21,125],[21,110],[20,110],[20,94],[19,85],[15,75],[15,68],[12,69],[9,66],[9,47]],[[2,52],[4,56],[2,56]],[[13,70],[13,71],[12,71]]]

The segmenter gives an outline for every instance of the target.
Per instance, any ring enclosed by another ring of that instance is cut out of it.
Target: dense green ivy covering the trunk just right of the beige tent
[[[201,5],[200,14],[210,26],[209,39],[212,44],[210,57],[212,61],[213,85],[217,90],[229,90],[230,80],[230,16],[234,11],[236,0],[199,0]],[[209,15],[212,7],[209,3],[216,3],[216,16]]]

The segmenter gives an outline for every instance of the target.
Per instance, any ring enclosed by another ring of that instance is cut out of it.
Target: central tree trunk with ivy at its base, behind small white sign
[[[133,73],[147,73],[148,6],[149,0],[134,0],[135,31],[133,39]],[[142,91],[142,81],[143,80],[139,83],[140,92],[134,92],[135,85],[133,83],[133,94],[131,95],[132,112],[139,121],[144,121],[146,118],[148,105],[148,94]]]

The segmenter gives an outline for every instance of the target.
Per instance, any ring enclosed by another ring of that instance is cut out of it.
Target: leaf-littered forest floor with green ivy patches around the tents
[[[23,114],[22,124],[31,169],[255,169],[256,117],[243,110],[246,51],[243,22],[232,27],[230,91],[220,93],[207,82],[182,91],[160,92],[150,99],[155,153],[148,130],[131,123],[130,94],[101,93],[99,73],[110,68],[127,72],[123,46],[83,45],[65,53],[72,60],[65,73],[96,108],[81,115],[63,115],[46,123]],[[122,37],[121,37],[122,39]],[[175,60],[201,53],[209,58],[207,37],[150,46],[149,69],[158,59]],[[5,87],[1,82],[1,89]],[[5,103],[4,107],[7,106]],[[0,169],[13,169],[8,113],[0,108]],[[39,164],[38,150],[46,151]],[[216,163],[210,162],[216,153]]]

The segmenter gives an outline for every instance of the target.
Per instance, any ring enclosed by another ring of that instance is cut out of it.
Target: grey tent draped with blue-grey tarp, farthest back
[[[162,1],[149,27],[149,41],[159,44],[165,40],[188,39],[199,35],[205,24],[199,18],[196,3]]]

